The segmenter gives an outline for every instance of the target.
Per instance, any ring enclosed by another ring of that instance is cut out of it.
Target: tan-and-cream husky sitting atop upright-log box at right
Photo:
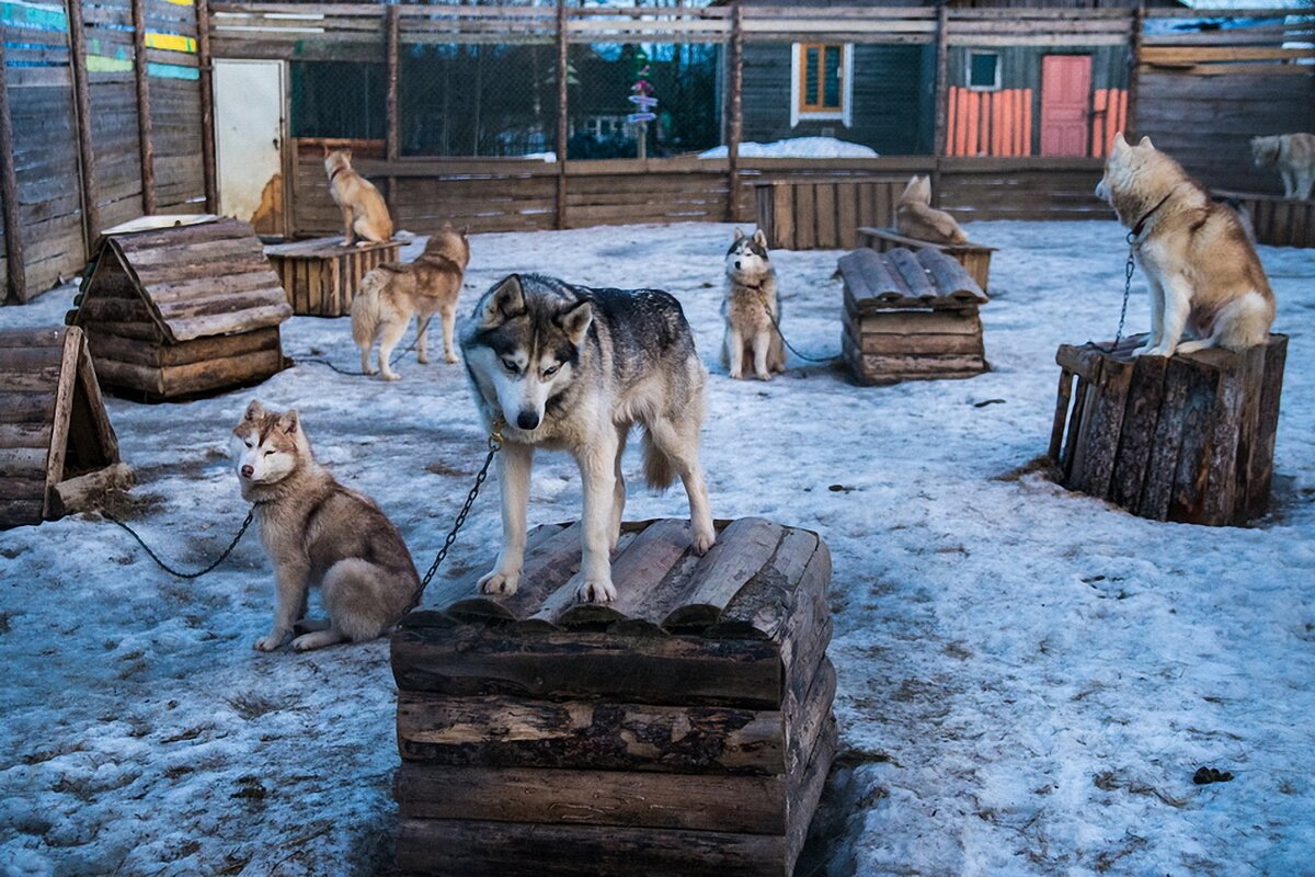
[[[1274,293],[1237,214],[1215,204],[1177,162],[1143,137],[1115,135],[1095,187],[1132,230],[1151,288],[1145,355],[1264,343],[1274,322]],[[1180,343],[1184,331],[1195,341]]]

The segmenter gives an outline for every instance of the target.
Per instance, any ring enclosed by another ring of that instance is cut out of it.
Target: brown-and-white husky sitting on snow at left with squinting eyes
[[[254,502],[260,542],[274,560],[277,607],[262,652],[292,640],[304,651],[373,639],[419,596],[419,576],[397,527],[370,497],[338,484],[316,463],[296,410],[252,401],[230,442],[242,498]],[[310,585],[323,588],[329,622],[305,622]]]

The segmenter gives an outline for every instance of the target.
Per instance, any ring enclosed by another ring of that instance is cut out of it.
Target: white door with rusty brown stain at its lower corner
[[[220,213],[283,234],[284,63],[214,59]]]

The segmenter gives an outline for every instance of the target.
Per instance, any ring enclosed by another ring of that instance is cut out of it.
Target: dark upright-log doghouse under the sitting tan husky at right
[[[1059,348],[1049,455],[1064,486],[1156,521],[1228,526],[1264,514],[1287,335],[1172,359],[1134,358],[1141,338],[1112,352]]]

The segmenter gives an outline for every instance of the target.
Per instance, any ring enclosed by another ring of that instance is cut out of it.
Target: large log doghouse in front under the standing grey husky
[[[836,748],[814,533],[627,523],[619,596],[576,602],[580,525],[529,538],[519,590],[438,584],[392,639],[397,865],[439,874],[786,877]]]

